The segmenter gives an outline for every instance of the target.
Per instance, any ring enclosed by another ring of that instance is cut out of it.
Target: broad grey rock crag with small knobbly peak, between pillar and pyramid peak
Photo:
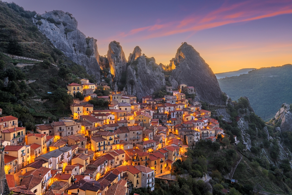
[[[137,96],[138,100],[165,86],[162,68],[155,63],[153,57],[146,58],[141,55],[141,51],[138,46],[135,47],[133,54],[128,58],[131,64],[127,68],[128,94]]]

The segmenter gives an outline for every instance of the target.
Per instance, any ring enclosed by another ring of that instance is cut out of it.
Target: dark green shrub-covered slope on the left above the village
[[[71,115],[66,84],[80,82],[77,77],[95,82],[39,32],[32,23],[35,14],[0,1],[0,51],[44,60],[16,60],[0,52],[0,108],[3,115],[18,117],[27,130],[43,120]]]

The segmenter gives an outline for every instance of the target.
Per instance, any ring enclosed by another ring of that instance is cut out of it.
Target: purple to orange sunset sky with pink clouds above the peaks
[[[13,1],[39,14],[72,13],[102,56],[115,40],[126,58],[139,46],[168,65],[187,42],[214,73],[292,63],[291,0]]]

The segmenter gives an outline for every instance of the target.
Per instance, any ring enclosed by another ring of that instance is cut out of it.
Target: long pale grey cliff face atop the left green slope
[[[51,40],[54,46],[77,64],[83,65],[89,74],[100,81],[99,54],[96,39],[86,38],[77,29],[77,20],[69,12],[50,11],[33,18],[39,30]]]

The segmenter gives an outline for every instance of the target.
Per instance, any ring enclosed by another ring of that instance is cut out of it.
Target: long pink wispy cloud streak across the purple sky
[[[233,1],[232,1],[233,2]],[[292,1],[244,1],[232,4],[226,1],[220,7],[206,14],[192,14],[180,21],[156,23],[154,25],[132,29],[128,32],[121,32],[117,37],[150,39],[164,37],[184,32],[197,32],[208,28],[222,25],[258,20],[282,14],[292,13]]]

